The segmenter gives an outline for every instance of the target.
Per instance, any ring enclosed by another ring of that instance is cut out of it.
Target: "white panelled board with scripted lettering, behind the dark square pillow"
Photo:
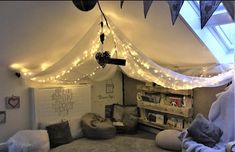
[[[91,86],[31,88],[32,128],[39,123],[80,118],[91,112]]]

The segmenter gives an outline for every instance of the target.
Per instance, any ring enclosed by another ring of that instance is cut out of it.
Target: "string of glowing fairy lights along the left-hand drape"
[[[35,76],[30,78],[31,81],[38,83],[56,83],[56,84],[77,84],[80,80],[84,80],[86,78],[92,78],[95,74],[103,70],[103,68],[97,64],[97,66],[89,73],[85,73],[83,75],[78,74],[78,68],[85,64],[88,60],[95,59],[95,53],[100,49],[101,43],[99,40],[99,36],[103,32],[106,36],[109,36],[110,30],[105,27],[102,30],[99,30],[95,40],[92,41],[92,47],[89,50],[85,50],[82,53],[82,57],[76,57],[76,59],[67,67],[67,69],[57,72],[56,74],[50,74],[48,76]],[[116,52],[116,48],[114,47],[110,55],[113,56]],[[24,72],[24,76],[31,76],[29,74],[32,72]],[[80,76],[79,76],[80,75]]]

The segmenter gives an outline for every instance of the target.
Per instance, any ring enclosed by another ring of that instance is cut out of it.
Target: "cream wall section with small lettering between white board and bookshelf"
[[[106,84],[113,82],[113,93],[106,93]],[[122,73],[117,71],[114,77],[103,82],[96,82],[91,90],[91,108],[92,112],[105,116],[105,105],[123,102],[122,94]]]

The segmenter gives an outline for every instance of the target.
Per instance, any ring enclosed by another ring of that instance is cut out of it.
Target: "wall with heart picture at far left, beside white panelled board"
[[[29,128],[28,88],[12,71],[0,67],[0,111],[6,111],[6,123],[0,124],[0,143],[6,141],[16,131]],[[20,108],[6,110],[6,96],[20,96]]]

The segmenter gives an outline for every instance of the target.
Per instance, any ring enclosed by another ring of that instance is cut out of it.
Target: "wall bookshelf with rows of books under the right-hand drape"
[[[137,86],[139,123],[158,129],[183,130],[192,121],[192,90],[171,90],[154,86]]]

